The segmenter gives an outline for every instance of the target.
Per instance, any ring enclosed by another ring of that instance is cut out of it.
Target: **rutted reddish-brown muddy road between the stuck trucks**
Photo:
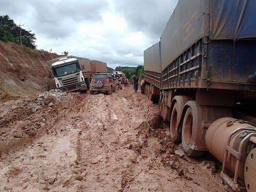
[[[131,88],[0,106],[0,191],[231,191],[220,164],[187,158]]]

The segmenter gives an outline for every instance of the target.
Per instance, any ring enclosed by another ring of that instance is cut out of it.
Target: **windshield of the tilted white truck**
[[[78,63],[70,63],[66,66],[61,66],[53,69],[53,73],[55,77],[61,77],[64,75],[69,75],[73,73],[77,73],[81,70]]]

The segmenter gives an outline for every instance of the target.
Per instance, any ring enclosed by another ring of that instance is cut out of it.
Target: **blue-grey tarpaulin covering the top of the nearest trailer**
[[[199,38],[256,37],[256,0],[179,0],[161,35],[165,69]]]

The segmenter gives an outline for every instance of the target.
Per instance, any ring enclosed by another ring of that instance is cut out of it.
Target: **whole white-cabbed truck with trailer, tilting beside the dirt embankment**
[[[86,92],[90,89],[91,76],[107,71],[107,63],[73,55],[55,58],[47,63],[49,77],[54,78],[56,88],[66,92]]]

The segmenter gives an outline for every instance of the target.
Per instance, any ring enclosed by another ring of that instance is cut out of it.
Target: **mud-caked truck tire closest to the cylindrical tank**
[[[191,101],[194,102],[195,101]],[[196,126],[199,125],[199,114],[196,105],[187,108],[182,124],[182,148],[188,157],[201,157],[205,151],[195,150],[193,142],[193,134],[195,134]]]

